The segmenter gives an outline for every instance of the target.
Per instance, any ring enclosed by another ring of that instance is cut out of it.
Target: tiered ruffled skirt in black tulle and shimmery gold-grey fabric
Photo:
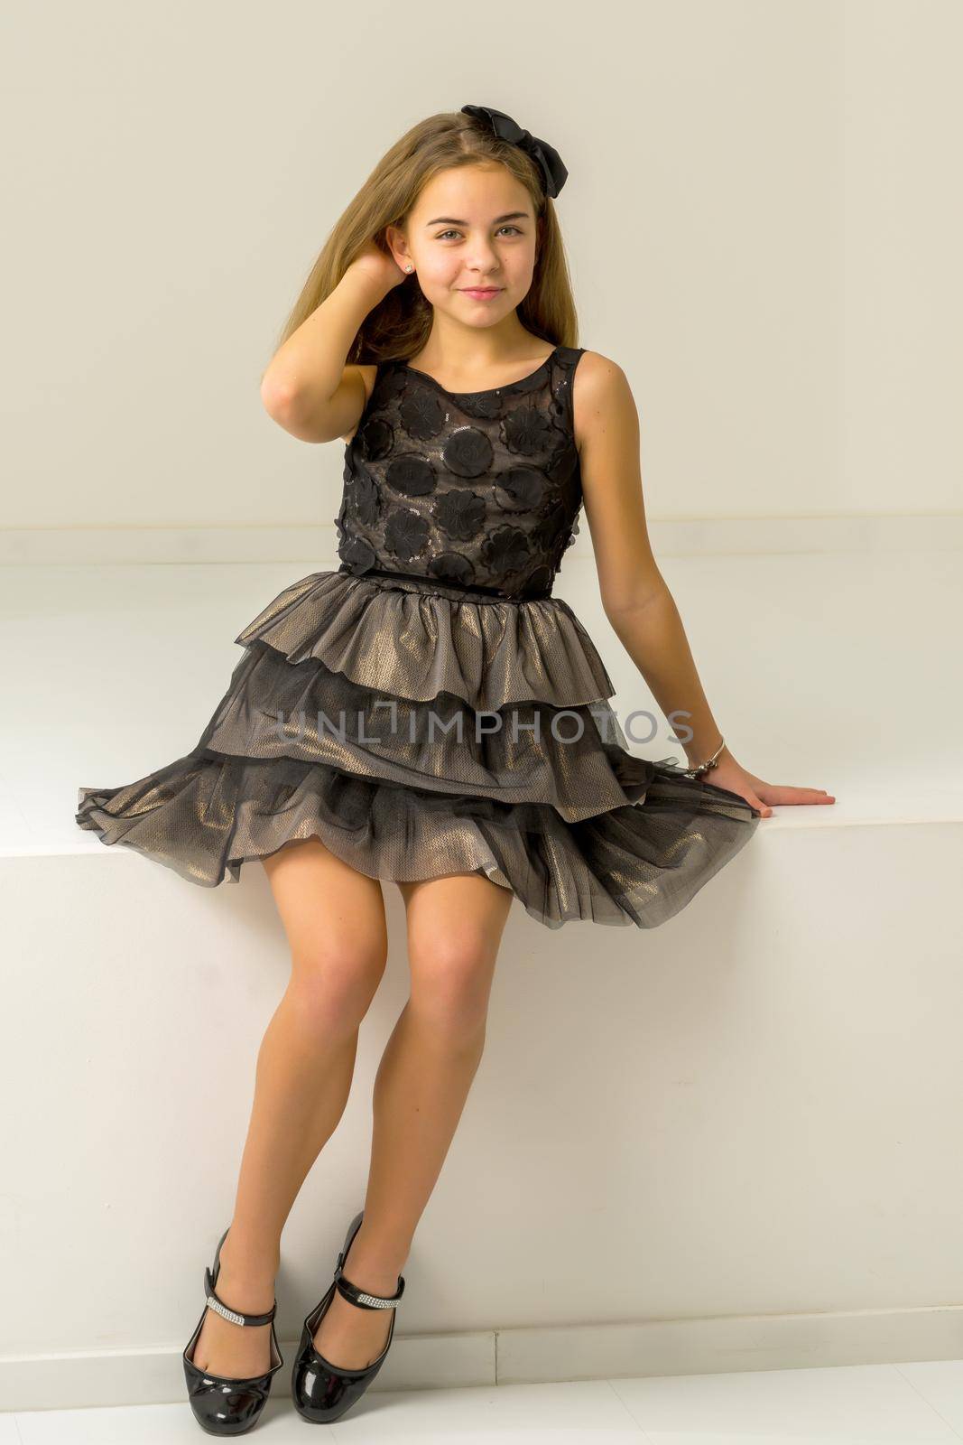
[[[547,928],[654,928],[759,814],[628,751],[596,647],[560,598],[313,572],[235,639],[196,747],[77,822],[217,886],[293,840],[370,877],[481,873]]]

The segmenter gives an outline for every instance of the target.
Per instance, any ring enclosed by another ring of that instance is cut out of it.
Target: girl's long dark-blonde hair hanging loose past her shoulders
[[[565,244],[554,204],[544,192],[541,171],[518,146],[501,140],[485,121],[461,111],[440,111],[411,126],[381,158],[349,202],[295,302],[277,350],[335,289],[367,241],[387,253],[385,227],[403,225],[422,186],[450,166],[498,160],[531,197],[539,246],[531,286],[518,306],[518,319],[533,335],[556,345],[578,345],[578,316]],[[394,286],[361,324],[347,361],[371,364],[414,355],[432,329],[432,305],[417,276]]]

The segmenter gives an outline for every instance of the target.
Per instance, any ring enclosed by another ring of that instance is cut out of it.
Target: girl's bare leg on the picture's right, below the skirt
[[[411,994],[378,1066],[364,1222],[344,1264],[345,1277],[372,1295],[397,1289],[465,1108],[513,899],[476,873],[398,887],[407,907]],[[384,1348],[390,1322],[390,1309],[364,1309],[335,1290],[315,1348],[332,1364],[364,1368]]]

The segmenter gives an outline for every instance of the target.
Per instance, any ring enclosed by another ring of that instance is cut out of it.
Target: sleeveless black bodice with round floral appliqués
[[[583,348],[488,392],[378,367],[345,448],[339,572],[406,574],[501,597],[549,597],[578,533],[572,384]]]

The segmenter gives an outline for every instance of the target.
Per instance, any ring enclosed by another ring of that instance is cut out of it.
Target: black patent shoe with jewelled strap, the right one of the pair
[[[394,1306],[404,1293],[404,1279],[401,1274],[398,1274],[397,1295],[385,1298],[383,1295],[367,1295],[341,1273],[341,1266],[348,1257],[351,1241],[361,1228],[362,1218],[364,1209],[361,1214],[355,1214],[354,1220],[348,1225],[345,1244],[338,1256],[338,1267],[335,1269],[334,1283],[328,1289],[323,1299],[315,1305],[312,1312],[305,1319],[300,1345],[295,1358],[295,1368],[292,1370],[292,1399],[295,1400],[295,1409],[300,1416],[303,1416],[303,1419],[310,1420],[315,1425],[325,1425],[331,1420],[341,1419],[345,1410],[349,1410],[355,1400],[361,1399],[364,1392],[368,1389],[375,1374],[384,1364],[388,1350],[391,1348],[391,1338],[394,1335]],[[321,1325],[331,1300],[335,1298],[335,1290],[339,1290],[345,1299],[351,1300],[352,1305],[360,1305],[362,1309],[391,1311],[391,1327],[388,1329],[387,1344],[378,1358],[372,1360],[371,1364],[365,1366],[362,1370],[347,1370],[339,1364],[332,1364],[315,1350],[313,1337],[318,1332],[318,1327]]]

